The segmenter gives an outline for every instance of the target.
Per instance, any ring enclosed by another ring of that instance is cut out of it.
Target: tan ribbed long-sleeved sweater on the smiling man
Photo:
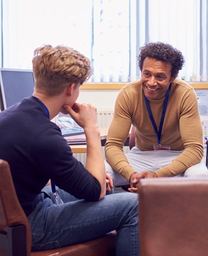
[[[163,103],[164,99],[149,101],[157,127]],[[142,151],[153,150],[157,136],[147,112],[140,80],[126,84],[119,92],[105,146],[106,160],[126,180],[135,172],[123,153],[123,144],[131,125],[136,127],[136,146]],[[203,132],[196,93],[183,80],[176,79],[171,84],[160,142],[171,146],[171,150],[183,152],[170,165],[156,170],[158,177],[180,174],[200,163],[203,157]]]

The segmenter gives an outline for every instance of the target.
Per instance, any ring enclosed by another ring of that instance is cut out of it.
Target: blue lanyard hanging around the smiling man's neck
[[[157,142],[158,142],[159,145],[160,145],[160,138],[161,138],[161,134],[162,134],[162,126],[163,126],[163,123],[164,123],[166,109],[167,109],[167,106],[168,106],[168,97],[170,95],[170,89],[171,89],[171,84],[170,84],[168,90],[166,91],[166,97],[164,99],[164,104],[163,104],[163,109],[162,109],[162,116],[161,116],[161,119],[160,119],[159,131],[156,127],[156,123],[155,123],[155,120],[153,118],[153,113],[151,111],[151,107],[149,106],[149,101],[148,101],[147,97],[144,94],[145,103],[146,103],[146,106],[147,106],[147,111],[149,113],[149,118],[151,119],[151,122],[153,124],[154,129],[155,129],[155,133],[156,133],[156,136],[157,136]]]

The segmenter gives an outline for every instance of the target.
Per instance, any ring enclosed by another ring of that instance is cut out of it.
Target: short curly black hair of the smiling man
[[[142,71],[143,61],[146,57],[152,57],[159,61],[170,63],[172,66],[171,77],[173,78],[177,77],[179,70],[182,69],[185,63],[182,53],[164,42],[149,42],[140,48],[140,54],[138,56],[140,71]]]

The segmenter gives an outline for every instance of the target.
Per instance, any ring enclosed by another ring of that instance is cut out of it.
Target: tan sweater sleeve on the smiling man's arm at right
[[[203,131],[194,89],[188,89],[181,102],[179,131],[185,150],[170,165],[156,170],[158,177],[181,174],[203,157]]]

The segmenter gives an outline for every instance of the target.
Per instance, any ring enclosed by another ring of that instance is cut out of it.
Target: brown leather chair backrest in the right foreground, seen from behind
[[[206,256],[208,178],[148,178],[139,184],[141,256]]]

